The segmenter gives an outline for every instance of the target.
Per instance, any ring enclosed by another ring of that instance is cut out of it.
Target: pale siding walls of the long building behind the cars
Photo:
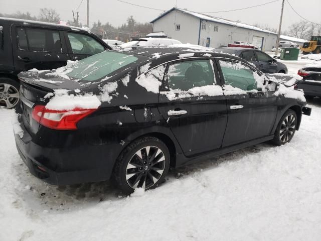
[[[206,46],[207,38],[210,38],[210,47],[218,48],[234,41],[244,41],[252,43],[253,35],[263,37],[263,51],[271,50],[276,43],[275,34],[260,31],[253,31],[222,23],[202,20],[206,24],[206,30],[200,32],[200,18],[187,13],[175,10],[153,23],[153,31],[164,31],[170,38],[177,39],[182,43],[200,44]],[[176,31],[176,25],[181,25],[181,30]],[[218,32],[214,32],[214,26],[218,27]]]

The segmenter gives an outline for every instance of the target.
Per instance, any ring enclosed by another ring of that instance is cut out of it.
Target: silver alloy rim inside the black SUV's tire
[[[8,83],[0,83],[0,106],[7,109],[15,107],[19,102],[19,90]]]

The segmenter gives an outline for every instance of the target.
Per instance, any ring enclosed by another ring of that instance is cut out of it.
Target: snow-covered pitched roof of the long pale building
[[[205,15],[205,14],[200,14],[200,13],[196,13],[193,11],[189,11],[186,9],[179,9],[179,8],[172,8],[169,11],[165,12],[164,14],[158,16],[156,19],[152,20],[150,23],[153,24],[155,21],[157,21],[158,19],[164,17],[165,15],[173,12],[173,11],[179,11],[179,12],[183,12],[192,16],[195,16],[197,18],[200,18],[202,20],[207,20],[207,21],[211,21],[211,22],[215,22],[215,23],[221,23],[221,24],[226,24],[226,25],[230,25],[230,26],[235,26],[238,28],[243,28],[243,29],[250,29],[250,30],[255,30],[255,31],[259,31],[259,32],[264,32],[264,33],[269,33],[269,34],[275,34],[277,35],[277,33],[274,33],[272,31],[266,30],[266,29],[261,29],[258,27],[255,27],[253,25],[249,25],[249,24],[243,24],[243,23],[239,23],[239,22],[234,22],[234,21],[230,21],[230,20],[226,20],[226,19],[221,19],[221,18],[217,18],[217,17],[213,17],[213,16],[209,16],[209,15]]]

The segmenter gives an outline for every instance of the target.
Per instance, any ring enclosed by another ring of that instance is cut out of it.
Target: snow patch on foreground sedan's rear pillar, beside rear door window
[[[142,70],[143,68],[143,70]],[[148,65],[149,68],[149,65]],[[140,68],[140,73],[144,73],[145,69],[148,69],[145,65]],[[144,87],[147,91],[158,93],[159,92],[159,86],[162,85],[162,82],[160,81],[163,79],[165,71],[165,66],[159,66],[157,68],[154,68],[150,71],[148,71],[146,74],[141,74],[136,78],[136,82]]]

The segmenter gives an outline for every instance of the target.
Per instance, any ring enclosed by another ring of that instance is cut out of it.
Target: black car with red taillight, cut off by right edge
[[[303,89],[306,98],[321,97],[321,63],[299,69],[297,74],[303,77],[297,87]]]

